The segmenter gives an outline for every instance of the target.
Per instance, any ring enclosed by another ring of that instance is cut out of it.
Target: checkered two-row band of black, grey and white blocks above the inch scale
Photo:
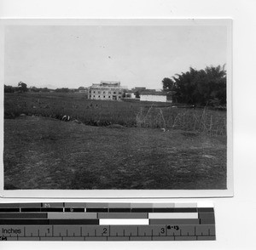
[[[215,224],[214,213],[0,213],[1,224]]]

